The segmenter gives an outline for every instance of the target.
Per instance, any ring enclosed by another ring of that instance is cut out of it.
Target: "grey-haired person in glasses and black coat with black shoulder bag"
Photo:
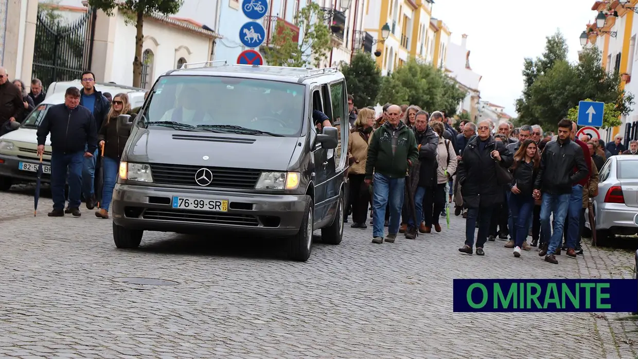
[[[463,151],[463,159],[457,168],[457,177],[463,195],[463,207],[468,209],[465,223],[465,245],[459,252],[472,254],[474,231],[479,217],[479,233],[476,254],[485,254],[483,245],[487,241],[489,224],[494,207],[505,201],[503,187],[498,184],[496,166],[509,168],[514,157],[502,142],[491,136],[489,121],[479,122],[479,135],[470,140]],[[480,211],[480,216],[479,216]]]

